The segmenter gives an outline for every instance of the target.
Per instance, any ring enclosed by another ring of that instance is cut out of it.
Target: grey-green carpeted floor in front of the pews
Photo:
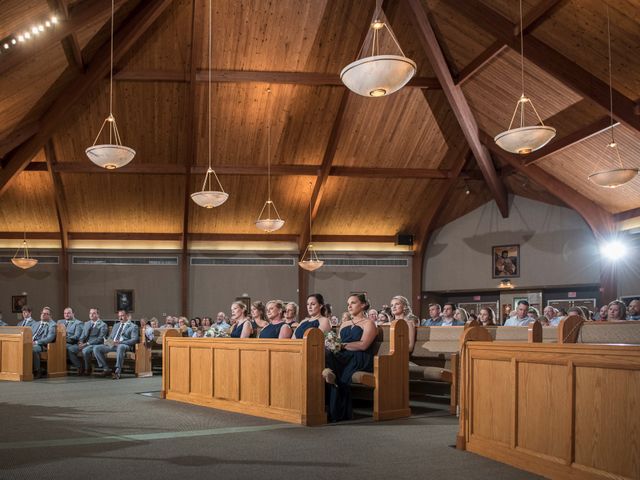
[[[452,448],[446,405],[301,427],[158,398],[160,377],[0,382],[0,479],[529,479]]]

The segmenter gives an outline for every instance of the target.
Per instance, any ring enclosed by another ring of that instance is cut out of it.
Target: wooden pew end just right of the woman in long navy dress
[[[376,421],[411,416],[409,408],[409,328],[404,320],[378,327],[374,344],[373,373],[355,372],[354,385],[373,388]]]

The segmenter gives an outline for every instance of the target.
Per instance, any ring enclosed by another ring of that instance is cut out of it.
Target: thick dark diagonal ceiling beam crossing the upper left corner
[[[91,3],[93,4],[93,2]],[[100,0],[97,3],[104,6],[107,2]],[[114,62],[120,60],[131,49],[171,4],[171,0],[149,0],[138,5],[131,12],[115,33]],[[78,8],[80,7],[78,6]],[[7,156],[4,168],[0,170],[0,195],[6,191],[15,176],[24,170],[59,126],[64,123],[73,111],[73,107],[104,79],[109,72],[110,43],[110,40],[107,40],[102,45],[86,73],[78,75],[72,80],[44,113],[40,119],[38,132]]]

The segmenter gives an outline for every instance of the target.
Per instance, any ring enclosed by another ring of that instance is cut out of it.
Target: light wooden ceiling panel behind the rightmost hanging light
[[[615,136],[623,165],[640,168],[640,135],[620,125],[615,128]],[[619,168],[617,159],[607,147],[610,138],[609,132],[603,132],[547,157],[537,165],[611,213],[636,208],[640,205],[640,177],[615,189],[599,187],[587,179],[596,171]]]

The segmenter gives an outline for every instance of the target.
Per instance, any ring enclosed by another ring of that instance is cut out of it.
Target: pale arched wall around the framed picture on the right
[[[600,283],[595,237],[568,208],[510,198],[509,218],[488,202],[437,230],[425,261],[425,290],[493,289],[491,247],[520,245],[517,287]]]

